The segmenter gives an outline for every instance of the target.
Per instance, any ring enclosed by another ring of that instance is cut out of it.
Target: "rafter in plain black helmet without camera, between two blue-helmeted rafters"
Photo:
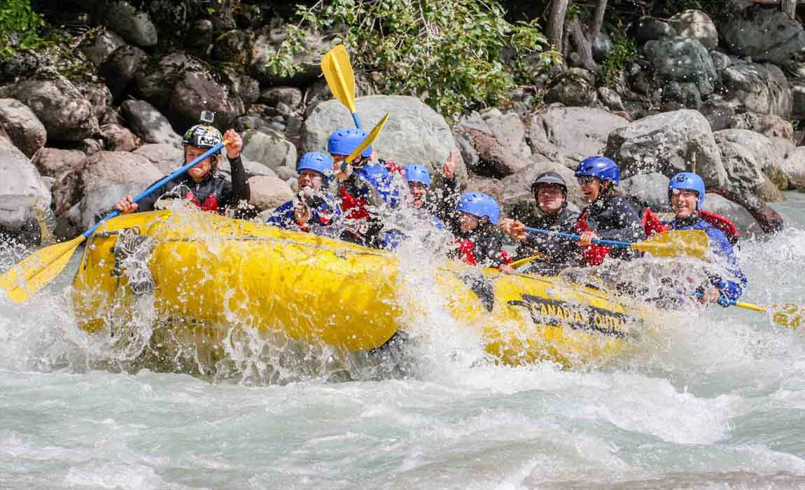
[[[529,223],[530,228],[573,233],[579,213],[568,209],[568,184],[562,175],[552,171],[537,175],[531,184],[531,191],[534,192],[540,216]],[[572,241],[542,233],[527,233],[525,224],[510,218],[502,220],[500,227],[513,240],[520,242],[515,260],[539,255],[548,264],[579,265],[579,248]]]

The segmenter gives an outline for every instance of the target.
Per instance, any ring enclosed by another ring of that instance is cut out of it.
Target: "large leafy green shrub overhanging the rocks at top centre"
[[[382,72],[388,89],[423,98],[445,117],[506,99],[529,61],[555,63],[537,23],[509,23],[497,0],[330,0],[298,6],[299,23],[269,68],[296,71],[305,31],[343,32],[353,67]],[[542,55],[542,56],[540,56]],[[504,61],[506,58],[506,61]]]

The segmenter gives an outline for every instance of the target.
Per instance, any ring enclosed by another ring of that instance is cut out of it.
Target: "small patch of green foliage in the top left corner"
[[[0,58],[38,46],[44,25],[42,16],[31,9],[30,0],[0,0]]]

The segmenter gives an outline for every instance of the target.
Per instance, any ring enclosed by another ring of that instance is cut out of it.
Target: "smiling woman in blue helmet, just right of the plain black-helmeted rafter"
[[[630,259],[638,254],[629,247],[609,249],[592,245],[594,238],[615,241],[641,241],[646,237],[638,212],[615,189],[621,179],[621,168],[603,156],[588,157],[576,167],[576,179],[588,205],[576,222],[580,233],[578,244],[589,266],[597,266],[607,253],[611,257]]]

